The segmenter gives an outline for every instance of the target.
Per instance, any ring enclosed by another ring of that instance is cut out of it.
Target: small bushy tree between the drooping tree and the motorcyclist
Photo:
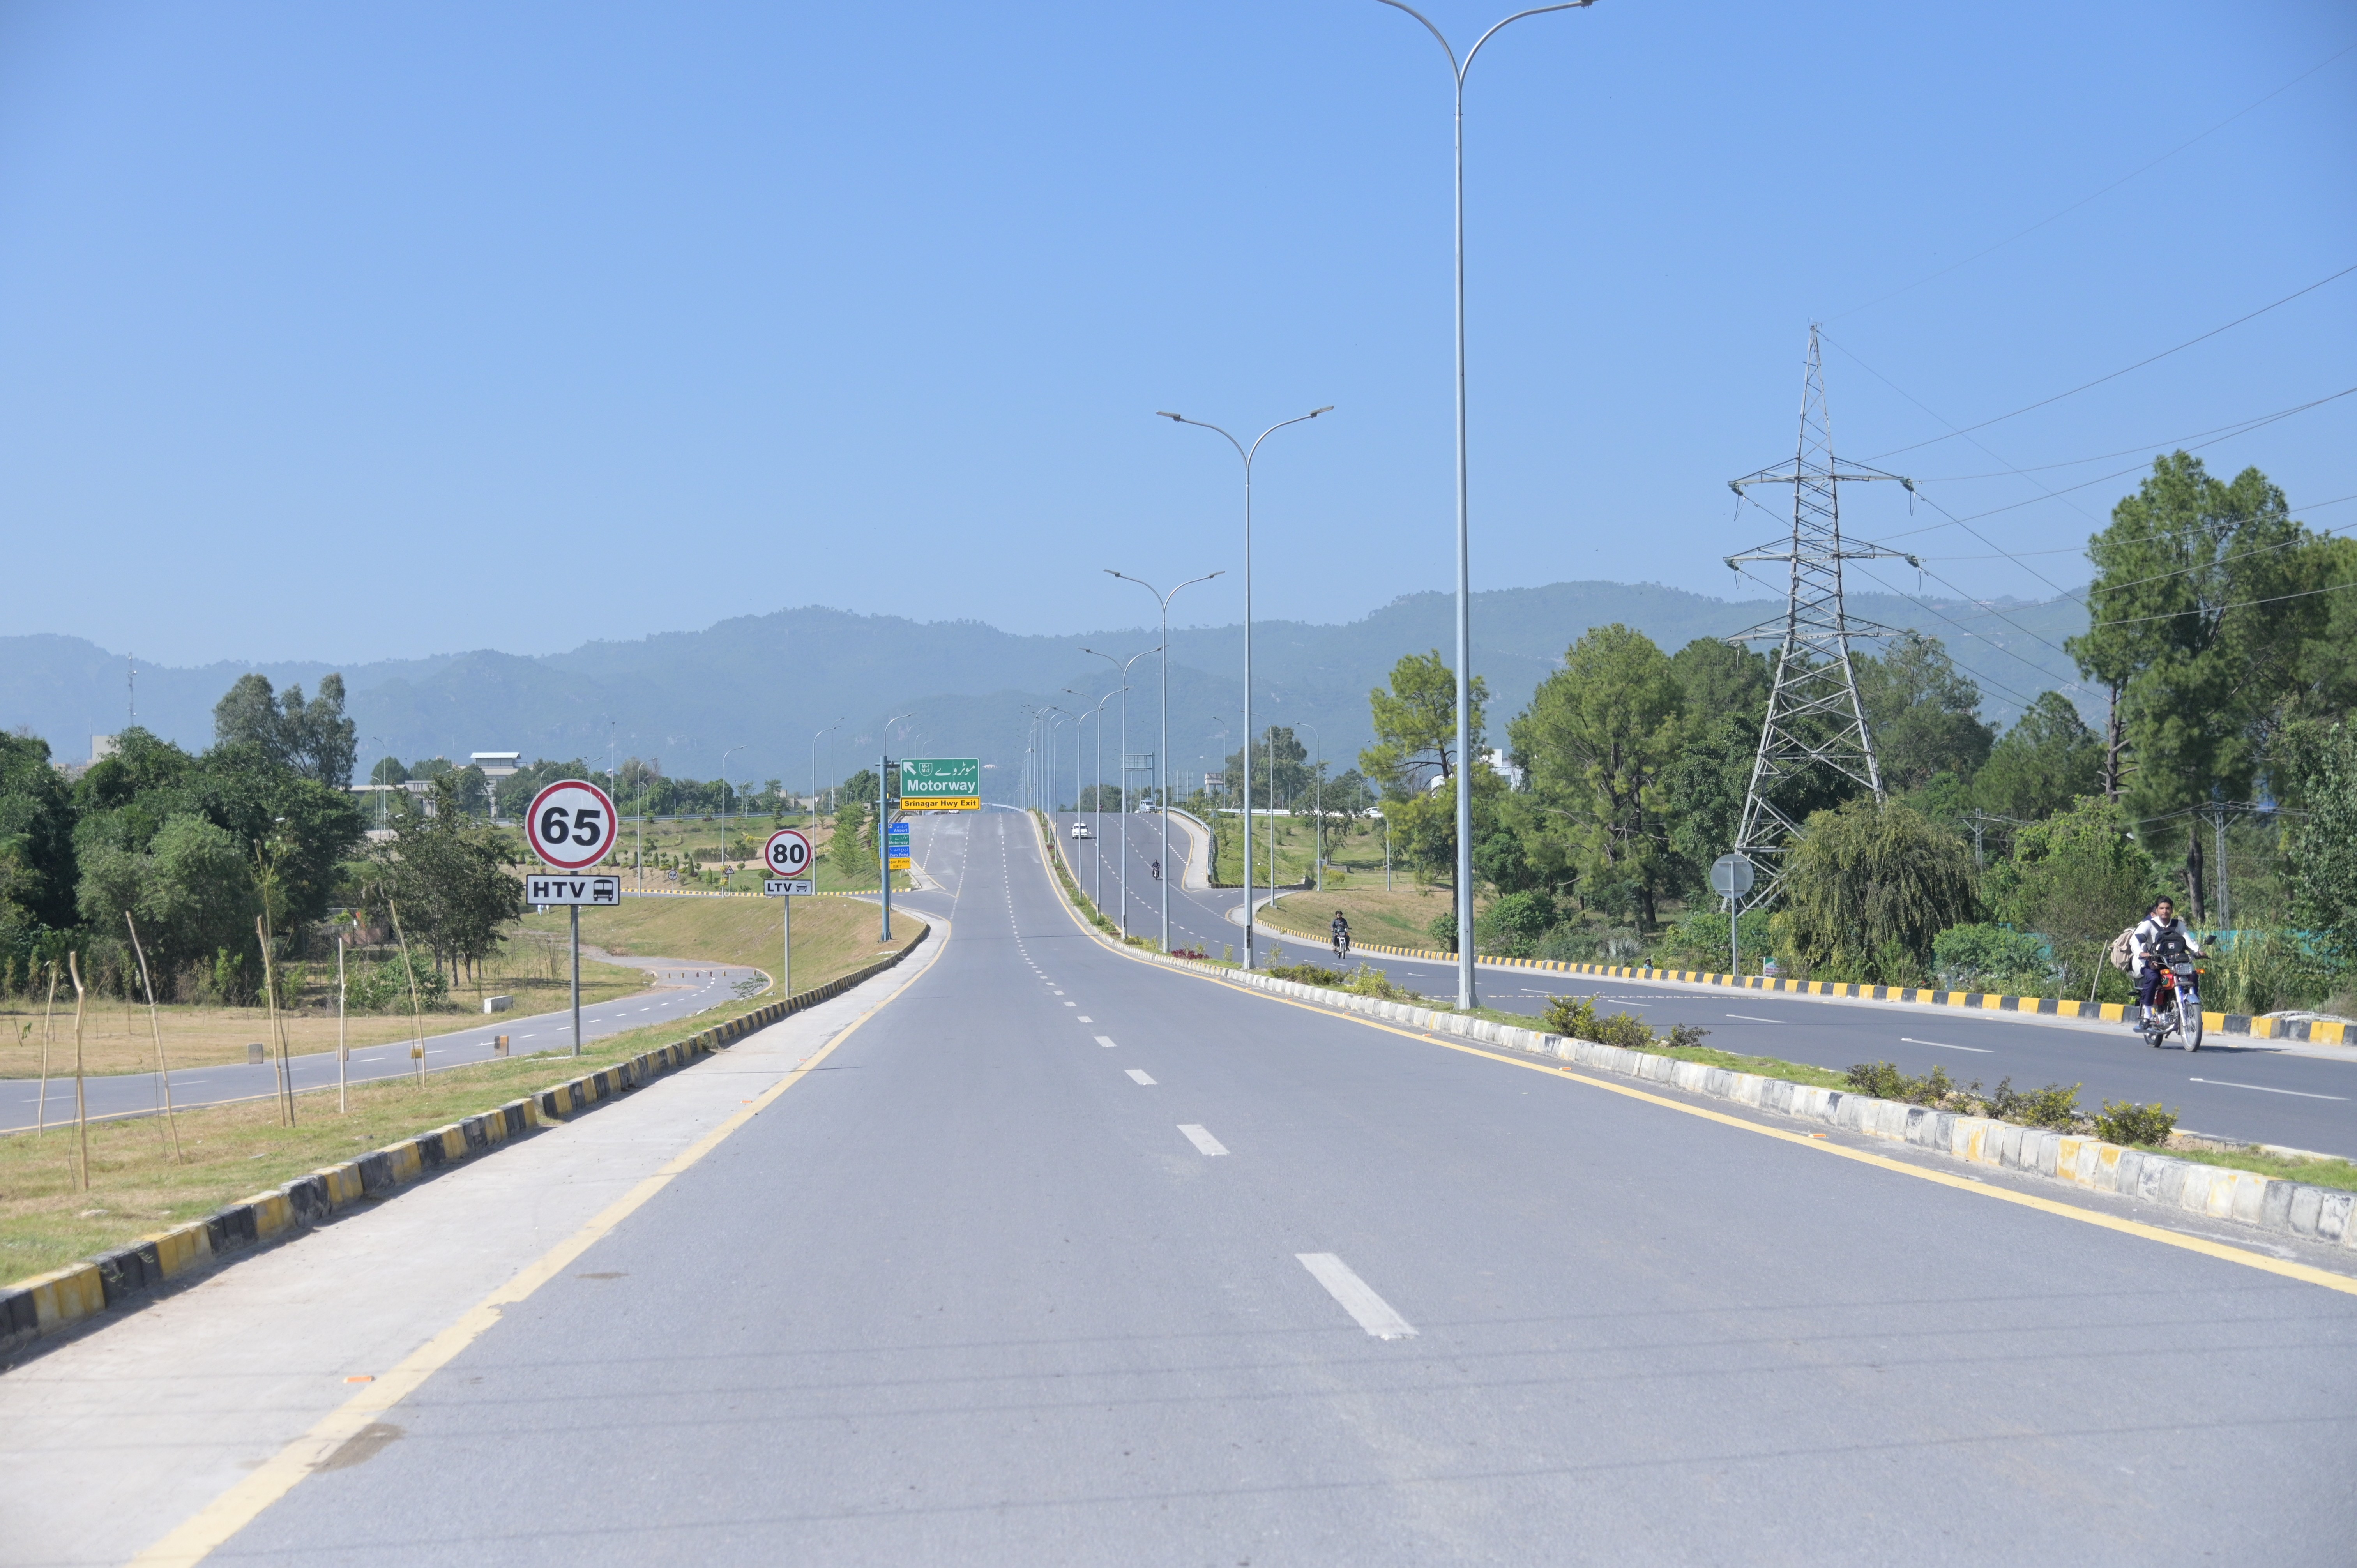
[[[2128,813],[2100,795],[2020,828],[2013,854],[1989,868],[1987,898],[1999,920],[2053,938],[2065,986],[2086,983],[2121,929],[2135,924],[2161,884]]]

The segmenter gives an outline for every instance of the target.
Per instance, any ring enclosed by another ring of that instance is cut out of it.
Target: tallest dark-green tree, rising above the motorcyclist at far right
[[[2258,469],[2223,483],[2171,453],[2112,507],[2088,559],[2091,625],[2067,646],[2119,693],[2131,811],[2249,799],[2282,705],[2303,677],[2336,681],[2338,663],[2315,653],[2331,594],[2310,589],[2348,573],[2348,552],[2319,547]]]

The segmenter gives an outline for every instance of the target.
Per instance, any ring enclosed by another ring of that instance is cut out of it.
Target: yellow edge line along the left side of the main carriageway
[[[469,1306],[457,1323],[443,1332],[427,1339],[422,1346],[410,1351],[401,1365],[391,1372],[377,1377],[365,1391],[354,1394],[337,1410],[328,1412],[311,1431],[302,1434],[276,1455],[262,1462],[262,1467],[245,1481],[236,1483],[210,1504],[205,1504],[196,1516],[174,1528],[160,1542],[130,1559],[130,1568],[186,1568],[189,1563],[205,1561],[217,1551],[231,1535],[250,1526],[262,1516],[273,1502],[295,1490],[295,1485],[318,1469],[337,1448],[361,1434],[372,1419],[398,1405],[403,1398],[415,1394],[434,1372],[450,1365],[450,1361],[464,1351],[469,1344],[483,1337],[493,1323],[500,1320],[502,1309],[523,1302],[535,1290],[563,1273],[582,1252],[603,1240],[615,1226],[641,1210],[655,1193],[669,1186],[681,1172],[702,1160],[707,1153],[735,1137],[761,1111],[797,1082],[804,1080],[820,1061],[834,1054],[844,1040],[858,1033],[867,1019],[884,1012],[891,1002],[900,997],[903,990],[924,979],[933,960],[950,941],[950,922],[940,922],[940,941],[933,946],[933,955],[926,957],[912,974],[907,974],[898,986],[893,986],[889,997],[882,997],[874,1007],[863,1012],[851,1021],[844,1033],[834,1035],[827,1045],[818,1049],[816,1056],[804,1061],[799,1068],[764,1089],[750,1106],[724,1120],[719,1127],[695,1139],[686,1151],[674,1155],[653,1177],[639,1181],[622,1198],[610,1203],[601,1214],[596,1214],[580,1231],[566,1240],[549,1247],[542,1257],[519,1269],[504,1285],[493,1290],[488,1297]],[[780,1019],[783,1021],[783,1019]]]

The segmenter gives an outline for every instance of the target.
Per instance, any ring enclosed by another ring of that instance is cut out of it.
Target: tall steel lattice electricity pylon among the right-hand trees
[[[1784,858],[1801,837],[1801,823],[1777,806],[1775,795],[1782,783],[1831,769],[1871,790],[1874,799],[1883,799],[1883,771],[1874,759],[1867,705],[1857,696],[1850,639],[1900,632],[1857,620],[1843,608],[1841,564],[1879,556],[1921,564],[1900,549],[1841,542],[1841,486],[1876,479],[1893,479],[1914,493],[1912,479],[1834,460],[1834,422],[1824,413],[1824,361],[1817,351],[1817,328],[1810,325],[1798,455],[1789,465],[1728,481],[1737,495],[1747,495],[1749,486],[1791,486],[1791,540],[1770,540],[1747,554],[1728,556],[1730,571],[1742,571],[1747,561],[1784,561],[1791,573],[1784,615],[1728,639],[1735,646],[1770,639],[1780,644],[1768,722],[1761,726],[1744,821],[1735,835],[1735,854],[1749,856],[1758,875],[1744,898],[1754,908],[1765,908],[1782,891]]]

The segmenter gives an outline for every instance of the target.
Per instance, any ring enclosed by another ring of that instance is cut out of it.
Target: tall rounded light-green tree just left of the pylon
[[[1669,851],[1662,776],[1678,752],[1685,691],[1643,632],[1586,632],[1513,722],[1532,795],[1565,821],[1591,889],[1622,889],[1657,924]]]

